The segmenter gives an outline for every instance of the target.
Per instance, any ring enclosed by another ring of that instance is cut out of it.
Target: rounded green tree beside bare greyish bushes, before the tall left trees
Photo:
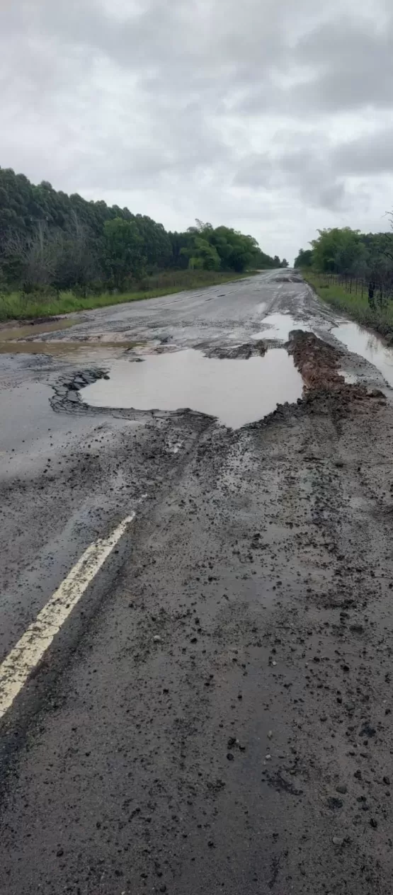
[[[142,255],[142,238],[133,221],[115,217],[104,225],[104,265],[107,277],[116,289],[123,289],[126,280],[141,277],[146,259]]]

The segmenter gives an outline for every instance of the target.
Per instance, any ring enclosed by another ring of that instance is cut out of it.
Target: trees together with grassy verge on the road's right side
[[[393,234],[319,230],[295,267],[320,298],[393,342]]]

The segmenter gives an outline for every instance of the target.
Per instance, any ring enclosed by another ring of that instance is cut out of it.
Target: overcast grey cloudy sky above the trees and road
[[[392,0],[0,0],[0,166],[291,262],[389,229]]]

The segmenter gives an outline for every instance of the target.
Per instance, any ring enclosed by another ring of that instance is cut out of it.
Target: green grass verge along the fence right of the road
[[[335,283],[326,286],[325,277],[313,271],[303,270],[302,273],[306,283],[312,286],[324,302],[337,308],[337,311],[346,313],[363,326],[375,329],[381,336],[389,337],[389,341],[390,338],[393,340],[393,304],[372,311],[365,290],[363,296],[361,292],[349,293],[344,286]]]

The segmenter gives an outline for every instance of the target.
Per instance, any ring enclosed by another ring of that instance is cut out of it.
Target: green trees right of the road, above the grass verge
[[[318,230],[311,249],[300,249],[296,268],[337,275],[366,284],[369,294],[393,294],[393,234],[361,233],[351,227]],[[371,297],[372,297],[371,295]]]

